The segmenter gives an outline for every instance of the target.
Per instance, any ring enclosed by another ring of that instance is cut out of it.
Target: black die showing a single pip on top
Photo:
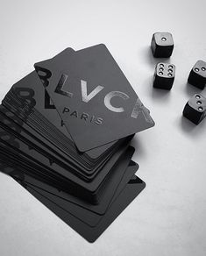
[[[151,48],[155,58],[169,58],[174,49],[172,34],[169,32],[154,33]]]

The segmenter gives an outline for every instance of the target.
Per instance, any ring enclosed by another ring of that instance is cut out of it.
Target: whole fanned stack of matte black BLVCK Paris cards
[[[104,45],[34,68],[0,107],[1,169],[93,242],[145,188],[129,145],[153,119]]]

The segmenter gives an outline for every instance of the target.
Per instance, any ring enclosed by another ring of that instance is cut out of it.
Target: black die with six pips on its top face
[[[153,87],[158,89],[172,89],[174,76],[175,66],[173,64],[158,63],[153,76]]]

